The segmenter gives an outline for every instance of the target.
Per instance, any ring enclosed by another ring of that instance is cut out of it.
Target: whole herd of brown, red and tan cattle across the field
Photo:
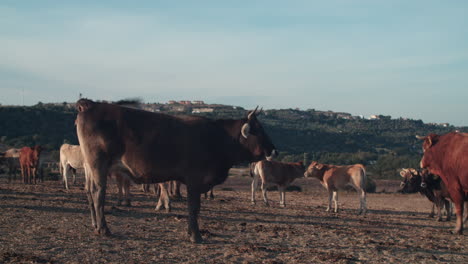
[[[188,232],[192,242],[201,242],[198,227],[200,195],[211,191],[228,176],[229,169],[250,163],[251,202],[260,183],[268,205],[268,185],[278,186],[280,206],[286,206],[285,190],[296,178],[314,177],[328,191],[328,207],[338,211],[338,190],[346,185],[358,191],[359,213],[365,214],[366,171],[363,165],[337,166],[312,162],[273,161],[277,151],[261,123],[257,109],[242,119],[213,120],[199,116],[171,116],[124,107],[118,104],[80,99],[75,121],[80,145],[60,148],[60,172],[66,189],[76,170],[85,175],[85,189],[91,222],[97,234],[110,234],[104,216],[108,178],[115,179],[118,204],[130,205],[130,184],[141,184],[144,191],[154,186],[159,195],[156,209],[170,210],[170,197],[180,197],[186,185]],[[402,192],[420,192],[433,202],[442,219],[441,209],[451,217],[452,201],[457,216],[455,233],[462,234],[468,215],[468,134],[452,132],[430,134],[424,140],[421,169],[402,169]],[[36,184],[41,147],[23,147],[0,153],[10,181],[16,168],[23,183]],[[434,206],[432,215],[434,214]],[[467,214],[463,218],[463,211]]]

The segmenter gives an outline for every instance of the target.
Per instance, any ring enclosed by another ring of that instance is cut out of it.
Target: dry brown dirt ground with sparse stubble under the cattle
[[[398,181],[377,181],[358,216],[358,196],[342,192],[339,213],[325,212],[325,190],[299,179],[302,191],[269,192],[266,207],[257,192],[250,205],[244,170],[203,200],[203,244],[188,242],[186,201],[171,213],[156,212],[155,198],[132,187],[133,206],[116,205],[108,190],[111,237],[93,234],[82,184],[65,191],[60,182],[8,184],[0,179],[0,263],[468,263],[467,235],[451,235],[454,221],[428,218],[419,194],[396,193]],[[468,233],[468,231],[465,231]]]

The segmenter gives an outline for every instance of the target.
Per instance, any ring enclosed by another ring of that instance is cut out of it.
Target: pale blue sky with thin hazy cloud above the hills
[[[0,103],[82,93],[468,126],[467,14],[468,1],[2,0]]]

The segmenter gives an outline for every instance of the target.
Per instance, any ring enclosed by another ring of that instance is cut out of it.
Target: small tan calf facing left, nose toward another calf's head
[[[335,213],[338,212],[338,190],[344,189],[347,185],[352,186],[359,195],[359,214],[365,214],[366,206],[366,191],[365,185],[367,181],[366,169],[362,164],[337,166],[329,164],[321,164],[313,161],[307,171],[305,177],[314,177],[320,180],[320,183],[328,191],[328,207],[327,212],[331,210],[332,199],[335,203]]]

